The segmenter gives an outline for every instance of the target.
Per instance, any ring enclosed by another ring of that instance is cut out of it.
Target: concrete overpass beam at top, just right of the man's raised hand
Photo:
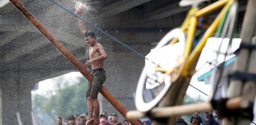
[[[101,16],[116,15],[148,1],[151,1],[151,0],[120,0],[118,2],[115,2],[111,5],[104,7],[103,10],[101,11],[103,12],[101,13]]]

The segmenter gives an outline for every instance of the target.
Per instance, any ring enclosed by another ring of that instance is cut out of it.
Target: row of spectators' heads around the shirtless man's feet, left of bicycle
[[[58,117],[56,118],[56,123],[57,125],[86,125],[86,117],[84,115],[72,115],[65,119]],[[139,120],[139,122],[141,125],[151,125],[151,120]],[[99,116],[99,125],[131,125],[131,123],[128,120],[124,120],[123,122],[118,121],[117,114],[115,113],[108,116],[106,112],[103,112]]]

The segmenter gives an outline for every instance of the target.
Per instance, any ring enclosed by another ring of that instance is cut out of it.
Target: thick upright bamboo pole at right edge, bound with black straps
[[[244,16],[243,24],[242,24],[242,30],[240,34],[240,38],[242,39],[242,43],[249,44],[251,42],[252,37],[255,35],[255,28],[256,28],[256,0],[248,0],[246,13]],[[237,55],[236,61],[233,66],[233,71],[240,71],[240,72],[246,72],[247,66],[248,66],[248,60],[249,59],[249,51],[248,49],[241,49],[240,53]],[[229,88],[227,91],[228,97],[236,97],[241,96],[242,94],[246,92],[245,89],[248,89],[246,86],[242,86],[242,81],[239,80],[233,80],[229,84]],[[245,88],[246,87],[246,88]],[[255,91],[255,88],[252,87]],[[247,91],[250,92],[250,91]],[[252,95],[252,94],[247,94]],[[255,96],[255,94],[254,94]],[[243,96],[244,97],[244,96]],[[242,118],[230,118],[223,120],[223,125],[234,125],[238,119]],[[241,123],[241,120],[238,120],[239,123],[237,125],[249,125],[248,119],[247,122]]]

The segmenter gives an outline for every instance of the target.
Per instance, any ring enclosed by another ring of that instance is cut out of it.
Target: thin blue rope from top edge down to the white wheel
[[[50,0],[50,1],[53,2],[54,4],[58,5],[59,7],[65,9],[65,10],[68,11],[70,14],[75,15],[75,14],[73,14],[70,10],[66,9],[65,7],[62,7],[60,4],[54,2],[53,0]],[[138,54],[139,56],[143,57],[144,59],[147,59],[147,58],[146,58],[145,56],[143,56],[141,53],[135,51],[134,49],[132,49],[132,48],[129,47],[128,45],[123,44],[123,43],[120,42],[118,39],[116,39],[116,38],[110,36],[109,34],[107,34],[106,32],[104,32],[103,30],[99,29],[97,26],[94,26],[94,25],[91,24],[90,22],[87,22],[87,21],[83,20],[81,17],[79,17],[79,16],[77,16],[77,15],[75,15],[75,17],[78,17],[78,18],[81,19],[83,22],[86,22],[86,23],[89,24],[90,26],[92,26],[92,27],[94,27],[95,29],[98,29],[99,31],[101,31],[102,33],[104,33],[106,36],[113,38],[113,40],[115,40],[115,41],[118,42],[119,44],[121,44],[121,45],[127,47],[129,50],[135,52],[136,54]],[[149,60],[149,59],[147,59],[147,60]],[[149,61],[151,61],[151,60],[149,60]],[[151,61],[151,62],[152,62],[152,61]],[[154,63],[154,62],[152,62],[152,63],[155,64],[155,65],[157,65],[157,64]],[[158,65],[157,65],[157,66],[158,66]]]

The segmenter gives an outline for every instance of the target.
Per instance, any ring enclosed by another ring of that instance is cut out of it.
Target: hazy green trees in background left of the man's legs
[[[46,121],[54,121],[56,117],[67,118],[70,115],[81,115],[87,112],[87,104],[85,100],[87,81],[83,76],[77,77],[77,79],[77,83],[63,87],[60,89],[60,92],[56,91],[56,94],[52,96],[32,96],[32,111],[41,118],[38,118],[39,121],[45,121],[43,122],[45,124]],[[67,82],[69,81],[65,81],[63,78],[57,79],[57,81],[54,80],[55,85],[58,85],[59,87],[60,84],[68,85]]]

